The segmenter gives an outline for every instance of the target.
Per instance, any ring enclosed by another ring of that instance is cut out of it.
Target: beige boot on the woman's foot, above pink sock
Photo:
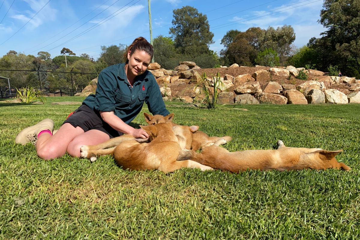
[[[19,132],[19,134],[15,138],[15,142],[22,145],[31,142],[33,145],[36,146],[37,135],[39,134],[39,132],[42,130],[50,130],[50,132],[52,132],[53,127],[54,127],[54,121],[49,118],[46,118],[41,122],[31,127],[27,127],[21,132]]]

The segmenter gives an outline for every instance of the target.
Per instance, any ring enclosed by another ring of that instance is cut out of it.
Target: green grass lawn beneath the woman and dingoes
[[[24,127],[52,118],[59,128],[78,107],[51,102],[83,99],[0,101],[0,239],[359,239],[359,104],[207,110],[166,103],[174,122],[232,136],[230,151],[272,149],[279,139],[343,149],[337,159],[350,172],[136,172],[109,156],[44,161],[33,145],[14,143]],[[145,124],[142,113],[133,124]]]

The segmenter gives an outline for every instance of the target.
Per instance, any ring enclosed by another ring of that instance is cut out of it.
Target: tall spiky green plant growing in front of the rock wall
[[[201,103],[208,109],[216,108],[220,91],[225,88],[224,83],[221,81],[220,73],[218,72],[216,77],[213,77],[213,82],[209,80],[204,73],[197,87],[200,88],[200,94],[204,94],[204,99]]]

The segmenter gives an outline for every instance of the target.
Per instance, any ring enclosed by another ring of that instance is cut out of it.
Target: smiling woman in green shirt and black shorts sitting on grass
[[[138,37],[124,54],[126,63],[100,72],[96,93],[83,101],[56,134],[52,135],[54,122],[44,119],[21,131],[15,142],[24,145],[31,141],[40,158],[53,159],[66,152],[80,157],[82,145],[96,145],[122,133],[148,138],[144,130],[128,124],[139,114],[144,101],[152,114],[169,114],[154,76],[147,71],[153,54],[153,46]]]

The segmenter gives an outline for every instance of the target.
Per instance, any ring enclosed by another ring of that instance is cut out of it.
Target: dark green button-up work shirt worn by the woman
[[[125,63],[120,63],[100,72],[96,93],[89,95],[82,103],[94,111],[113,111],[129,124],[139,114],[144,101],[153,115],[169,114],[153,74],[145,71],[136,76],[131,87],[125,74]]]

